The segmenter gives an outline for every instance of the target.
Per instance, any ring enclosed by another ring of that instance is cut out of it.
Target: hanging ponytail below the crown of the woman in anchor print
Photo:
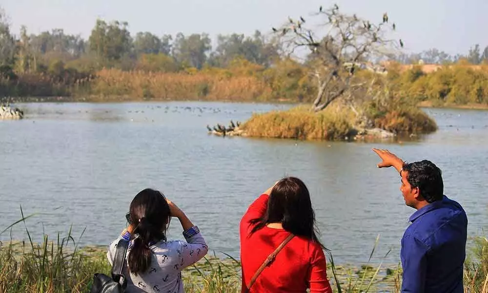
[[[134,233],[139,234],[139,236],[134,239],[134,244],[127,258],[127,265],[129,271],[137,276],[138,273],[147,271],[151,265],[152,251],[149,248],[149,243],[161,239],[165,241],[166,237],[161,230],[155,229],[145,218],[141,219]]]

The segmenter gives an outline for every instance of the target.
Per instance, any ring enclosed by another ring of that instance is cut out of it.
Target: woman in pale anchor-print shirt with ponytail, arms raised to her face
[[[180,220],[186,242],[167,241],[170,217]],[[110,243],[107,258],[113,264],[117,243],[130,241],[123,274],[127,293],[184,293],[181,271],[207,253],[197,226],[164,195],[153,189],[139,192],[130,204],[129,227]]]

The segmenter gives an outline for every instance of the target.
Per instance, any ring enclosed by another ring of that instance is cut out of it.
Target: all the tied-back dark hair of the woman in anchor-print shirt
[[[152,258],[150,242],[166,241],[166,225],[169,224],[169,205],[160,191],[146,188],[130,203],[130,223],[135,227],[134,245],[127,258],[129,271],[137,276],[145,272]]]

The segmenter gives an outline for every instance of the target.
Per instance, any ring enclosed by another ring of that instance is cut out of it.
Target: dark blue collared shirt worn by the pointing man
[[[402,238],[402,293],[463,293],[468,218],[447,196],[410,216]]]

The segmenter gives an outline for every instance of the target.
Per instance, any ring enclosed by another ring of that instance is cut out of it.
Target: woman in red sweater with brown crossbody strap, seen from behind
[[[298,178],[287,177],[269,188],[247,209],[240,224],[243,284],[246,292],[266,257],[293,237],[258,276],[251,293],[332,293],[324,245],[316,235],[310,194]]]

